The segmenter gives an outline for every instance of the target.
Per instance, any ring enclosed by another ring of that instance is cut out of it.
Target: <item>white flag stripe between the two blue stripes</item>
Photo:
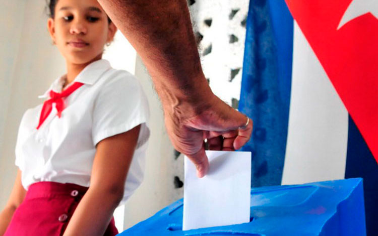
[[[293,43],[282,184],[344,179],[348,112],[295,21]]]

